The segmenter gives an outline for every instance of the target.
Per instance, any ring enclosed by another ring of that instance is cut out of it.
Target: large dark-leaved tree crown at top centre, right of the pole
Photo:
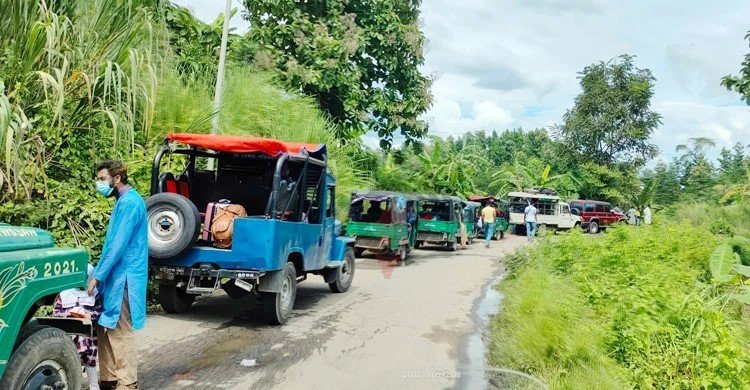
[[[348,139],[375,131],[389,147],[400,133],[427,134],[418,117],[431,104],[420,73],[420,0],[246,0],[251,23],[241,56],[276,69],[314,96]]]

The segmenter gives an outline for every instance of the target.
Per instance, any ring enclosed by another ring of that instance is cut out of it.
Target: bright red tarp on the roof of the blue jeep
[[[324,144],[282,142],[270,138],[239,135],[170,133],[167,134],[167,139],[217,152],[263,153],[272,157],[282,153],[301,154],[302,149],[308,153],[325,153]]]

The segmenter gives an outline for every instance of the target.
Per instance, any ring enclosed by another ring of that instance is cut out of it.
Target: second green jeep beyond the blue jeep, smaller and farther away
[[[445,245],[455,251],[459,238],[459,227],[463,216],[463,200],[456,196],[419,195],[419,222],[417,223],[417,242],[423,244]]]

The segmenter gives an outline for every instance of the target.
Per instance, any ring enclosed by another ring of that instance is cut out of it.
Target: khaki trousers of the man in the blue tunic
[[[114,329],[96,327],[99,339],[99,380],[117,381],[117,389],[135,388],[138,366],[133,353],[133,323],[130,320],[128,290],[122,298],[120,319]]]

